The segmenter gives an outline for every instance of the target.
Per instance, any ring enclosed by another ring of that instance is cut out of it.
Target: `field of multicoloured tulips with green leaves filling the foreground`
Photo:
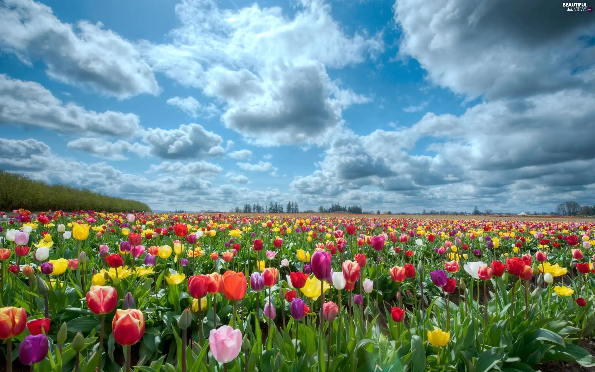
[[[592,220],[0,217],[7,371],[595,367]]]

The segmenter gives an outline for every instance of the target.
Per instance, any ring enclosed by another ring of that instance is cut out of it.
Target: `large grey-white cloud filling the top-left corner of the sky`
[[[62,23],[39,2],[0,4],[0,43],[27,64],[42,60],[48,76],[62,83],[90,86],[120,99],[160,92],[133,43],[101,23]]]

